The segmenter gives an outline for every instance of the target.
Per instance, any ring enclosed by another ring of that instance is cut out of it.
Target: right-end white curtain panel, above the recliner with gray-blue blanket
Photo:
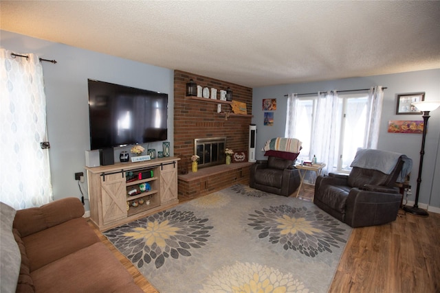
[[[366,131],[364,148],[377,148],[379,139],[380,117],[382,116],[382,103],[384,101],[384,89],[376,86],[369,91],[369,102],[366,113]]]

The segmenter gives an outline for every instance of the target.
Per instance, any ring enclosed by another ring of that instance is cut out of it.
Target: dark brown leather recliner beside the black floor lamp
[[[353,167],[349,175],[318,176],[314,204],[353,228],[393,222],[401,202],[394,185],[403,165],[400,157],[390,174]]]

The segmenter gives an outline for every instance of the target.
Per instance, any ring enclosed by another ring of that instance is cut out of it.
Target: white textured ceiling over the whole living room
[[[1,30],[250,87],[440,68],[440,1],[0,1],[0,10]]]

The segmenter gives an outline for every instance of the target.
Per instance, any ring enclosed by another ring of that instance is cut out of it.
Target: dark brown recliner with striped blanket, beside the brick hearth
[[[249,186],[280,196],[292,195],[300,185],[300,174],[294,163],[294,160],[275,156],[257,161],[250,167]]]

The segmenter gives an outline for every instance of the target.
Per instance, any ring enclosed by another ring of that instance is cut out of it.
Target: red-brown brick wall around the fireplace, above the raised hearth
[[[190,171],[190,157],[194,154],[194,139],[207,137],[226,137],[226,148],[234,151],[249,148],[249,124],[252,117],[231,116],[227,120],[224,115],[217,114],[217,104],[185,99],[186,83],[190,78],[200,86],[220,90],[232,89],[232,99],[245,102],[248,114],[252,114],[252,89],[230,82],[214,80],[205,76],[174,72],[174,154],[179,156],[179,174]],[[229,105],[222,105],[222,110],[231,110]]]

